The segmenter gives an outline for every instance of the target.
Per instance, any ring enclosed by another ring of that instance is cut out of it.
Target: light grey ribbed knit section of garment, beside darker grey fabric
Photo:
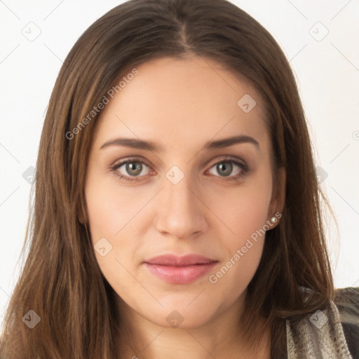
[[[288,359],[353,359],[334,302],[305,316],[297,325],[286,320]]]

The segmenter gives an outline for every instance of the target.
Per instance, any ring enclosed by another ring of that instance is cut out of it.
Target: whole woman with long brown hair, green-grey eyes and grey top
[[[294,76],[228,1],[131,0],[90,26],[55,83],[35,190],[1,357],[358,353]]]

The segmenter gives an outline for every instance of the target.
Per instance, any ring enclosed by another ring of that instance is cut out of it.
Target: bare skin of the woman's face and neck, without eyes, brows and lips
[[[280,172],[282,190],[274,196],[273,150],[262,97],[244,76],[202,57],[161,58],[137,69],[139,74],[97,120],[85,189],[93,244],[104,237],[112,245],[104,257],[95,251],[97,262],[118,294],[118,311],[141,350],[135,353],[119,339],[119,357],[269,358],[268,330],[262,328],[264,341],[252,353],[237,320],[264,237],[217,283],[208,280],[283,209],[285,174]],[[247,93],[257,102],[249,113],[237,105]],[[233,135],[253,137],[259,147],[245,142],[202,149],[207,141]],[[117,137],[151,140],[164,150],[100,149]],[[244,162],[249,171],[226,180],[243,170],[233,164],[229,175],[221,175],[216,164],[225,156]],[[132,157],[145,163],[139,180],[126,182],[116,175],[131,177],[126,164],[115,171],[111,165]],[[177,184],[165,177],[173,165],[184,174]],[[194,283],[170,284],[143,264],[168,253],[195,253],[219,262]],[[183,318],[179,327],[166,320],[174,310]]]

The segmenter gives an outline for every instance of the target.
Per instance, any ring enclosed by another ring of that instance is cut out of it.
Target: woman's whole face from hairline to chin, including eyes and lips
[[[241,307],[281,210],[264,102],[201,57],[137,70],[107,95],[90,149],[95,256],[122,311],[196,327]]]

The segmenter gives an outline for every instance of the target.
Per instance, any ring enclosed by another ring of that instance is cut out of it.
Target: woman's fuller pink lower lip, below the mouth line
[[[157,276],[172,284],[188,284],[208,273],[217,262],[207,264],[194,264],[191,266],[160,266],[145,263],[147,269]]]

